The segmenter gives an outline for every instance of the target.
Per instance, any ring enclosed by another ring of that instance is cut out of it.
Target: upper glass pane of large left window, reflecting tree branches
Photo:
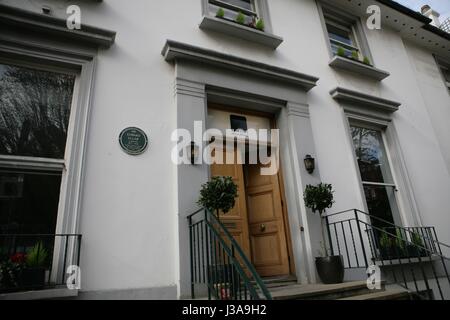
[[[74,82],[0,64],[0,154],[64,158]]]

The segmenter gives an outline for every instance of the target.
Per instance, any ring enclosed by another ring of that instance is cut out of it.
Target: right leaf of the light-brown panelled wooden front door
[[[251,259],[259,275],[289,274],[289,255],[278,175],[261,175],[262,165],[245,165]]]

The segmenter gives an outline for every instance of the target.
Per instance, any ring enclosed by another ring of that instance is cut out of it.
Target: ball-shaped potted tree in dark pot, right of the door
[[[341,255],[331,256],[327,249],[327,237],[325,230],[327,226],[322,219],[322,215],[326,209],[333,205],[333,187],[331,184],[320,183],[316,186],[307,185],[304,192],[304,200],[306,207],[310,208],[312,212],[318,212],[321,216],[322,224],[322,244],[324,252],[321,257],[316,257],[316,268],[320,279],[325,284],[342,283],[344,280],[344,262]]]

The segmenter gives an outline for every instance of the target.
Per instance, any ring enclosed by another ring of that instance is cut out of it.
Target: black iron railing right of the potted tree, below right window
[[[424,299],[450,299],[450,259],[434,227],[401,227],[352,209],[324,217],[333,255],[346,269],[378,265],[388,283]]]

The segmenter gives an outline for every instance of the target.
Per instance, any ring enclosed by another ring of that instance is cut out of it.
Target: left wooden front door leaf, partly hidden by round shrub
[[[230,176],[232,177],[234,183],[236,183],[236,185],[238,186],[238,197],[236,198],[236,204],[234,208],[226,214],[220,213],[219,217],[220,221],[225,225],[225,227],[237,241],[246,256],[250,257],[250,241],[248,233],[247,206],[245,203],[244,173],[242,164],[238,164],[242,163],[240,161],[240,152],[236,152],[234,150],[225,151],[222,148],[215,149],[214,152],[223,152],[223,162],[225,162],[227,153],[231,153],[231,158],[234,158],[234,164],[212,164],[211,176]]]

